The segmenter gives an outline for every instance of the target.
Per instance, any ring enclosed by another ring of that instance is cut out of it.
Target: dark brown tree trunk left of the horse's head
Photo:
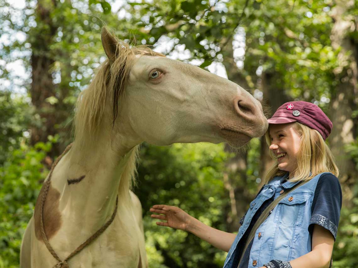
[[[32,47],[32,83],[30,95],[32,104],[35,107],[35,120],[31,126],[32,145],[40,141],[46,142],[49,135],[55,135],[57,131],[55,130],[55,125],[61,123],[64,119],[59,118],[60,114],[62,114],[58,109],[59,104],[51,104],[48,99],[49,97],[56,97],[56,87],[53,84],[51,70],[55,60],[50,45],[53,43],[53,38],[58,28],[58,25],[54,24],[51,16],[57,3],[55,0],[37,1],[37,26],[29,33]],[[53,157],[60,153],[61,150],[55,145],[52,151],[49,152],[49,155]]]

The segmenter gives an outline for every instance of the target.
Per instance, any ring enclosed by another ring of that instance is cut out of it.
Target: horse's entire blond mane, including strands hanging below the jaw
[[[118,104],[123,96],[130,69],[133,66],[136,55],[162,56],[145,45],[131,47],[129,44],[115,39],[116,58],[113,62],[107,58],[95,72],[93,80],[87,89],[82,91],[76,102],[74,115],[74,137],[79,147],[86,146],[88,142],[94,142],[102,128],[109,127],[103,124],[103,117],[112,115],[112,127],[118,114]],[[106,108],[107,107],[107,108]],[[105,113],[111,107],[112,114]],[[107,119],[107,118],[106,118]],[[106,120],[106,122],[108,122]],[[129,154],[129,160],[124,167],[119,185],[119,196],[126,196],[126,192],[135,183],[136,160],[139,146],[135,146]]]

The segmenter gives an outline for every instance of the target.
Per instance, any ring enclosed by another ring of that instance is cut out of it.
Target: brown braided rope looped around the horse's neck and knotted
[[[52,164],[52,167],[51,167],[51,170],[49,173],[49,177],[48,177],[47,181],[45,181],[44,186],[43,186],[44,193],[42,195],[41,209],[40,209],[40,230],[41,230],[42,239],[43,239],[48,251],[58,261],[58,263],[55,264],[53,268],[69,268],[67,261],[70,258],[72,258],[74,255],[76,255],[78,252],[80,252],[84,247],[89,245],[93,240],[95,240],[98,236],[100,236],[107,229],[107,227],[114,220],[114,218],[117,214],[117,208],[118,208],[118,195],[117,195],[116,206],[115,206],[115,209],[113,211],[111,218],[100,229],[98,229],[96,233],[91,235],[91,237],[89,237],[85,242],[83,242],[81,245],[79,245],[78,248],[76,248],[71,254],[69,254],[66,259],[61,260],[60,257],[58,257],[58,255],[56,254],[56,252],[54,251],[54,249],[51,247],[50,243],[48,242],[47,236],[45,234],[45,228],[44,228],[44,223],[43,223],[43,210],[44,210],[45,200],[46,200],[48,190],[50,187],[50,183],[51,183],[52,172],[53,172],[55,166],[61,160],[61,158],[69,151],[69,149],[71,149],[71,147],[72,147],[72,143],[66,147],[66,149],[63,151],[63,153],[59,157],[57,157],[56,161]]]

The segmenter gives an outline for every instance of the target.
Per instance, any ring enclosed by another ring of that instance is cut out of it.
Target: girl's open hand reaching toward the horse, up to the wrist
[[[157,221],[156,224],[160,226],[168,226],[174,229],[180,229],[187,231],[190,223],[190,216],[184,210],[176,207],[176,206],[168,206],[168,205],[154,205],[149,210],[150,212],[159,213],[151,214],[150,216],[155,219],[165,220],[165,221]]]

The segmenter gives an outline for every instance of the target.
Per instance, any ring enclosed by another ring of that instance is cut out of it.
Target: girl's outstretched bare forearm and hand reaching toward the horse
[[[226,233],[205,225],[176,206],[154,205],[150,211],[162,214],[151,215],[152,218],[165,220],[157,221],[157,225],[168,226],[190,232],[212,244],[214,247],[226,252],[229,252],[229,249],[236,237],[235,234]]]

